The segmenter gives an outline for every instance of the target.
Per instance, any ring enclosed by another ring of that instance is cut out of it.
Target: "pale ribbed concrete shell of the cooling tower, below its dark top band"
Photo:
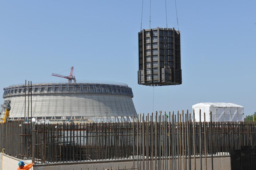
[[[10,119],[24,117],[25,96],[10,96],[5,100],[11,101]],[[42,116],[106,116],[106,112],[108,116],[136,115],[132,97],[127,95],[61,93],[32,96],[32,116],[39,119]]]

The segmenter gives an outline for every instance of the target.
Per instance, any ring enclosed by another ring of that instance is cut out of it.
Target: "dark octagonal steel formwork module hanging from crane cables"
[[[157,27],[143,29],[138,37],[138,84],[180,85],[180,31]]]

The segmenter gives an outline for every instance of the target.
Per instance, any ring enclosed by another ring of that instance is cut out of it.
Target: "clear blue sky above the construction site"
[[[149,28],[144,0],[142,28]],[[175,1],[167,24],[178,29]],[[21,84],[123,82],[137,113],[192,111],[199,102],[230,102],[256,112],[256,1],[176,0],[181,32],[182,85],[138,85],[142,0],[1,1],[0,89]],[[166,27],[165,1],[151,0],[151,28]],[[0,93],[3,95],[3,90]],[[3,103],[0,99],[0,103]]]

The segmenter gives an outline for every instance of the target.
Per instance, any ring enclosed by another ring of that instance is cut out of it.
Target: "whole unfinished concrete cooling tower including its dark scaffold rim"
[[[137,116],[132,88],[126,84],[32,84],[29,94],[28,97],[28,85],[26,90],[25,85],[4,88],[0,117],[3,117],[7,103],[11,105],[9,120],[24,120],[24,117],[31,120],[32,114],[36,120],[130,122],[133,114]]]

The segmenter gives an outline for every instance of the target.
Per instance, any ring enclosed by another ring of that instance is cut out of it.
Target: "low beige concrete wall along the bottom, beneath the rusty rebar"
[[[17,169],[18,168],[18,162],[19,159],[10,157],[5,154],[1,154],[1,169],[0,170],[9,170],[9,169]],[[31,163],[31,160],[24,160],[25,164]],[[150,164],[150,161],[148,161]],[[163,161],[162,161],[163,163]],[[152,161],[153,167],[152,169],[155,169],[155,160]],[[202,169],[211,170],[212,169],[212,161],[211,157],[202,158]],[[135,168],[137,168],[137,161],[134,163]],[[176,165],[178,167],[178,159],[176,159]],[[180,162],[181,169],[183,169],[183,159],[181,159]],[[141,169],[143,167],[142,161],[139,166],[141,166]],[[168,169],[170,169],[170,164],[168,160]],[[58,163],[58,164],[44,164],[44,165],[34,165],[31,169],[32,170],[105,170],[105,169],[131,169],[133,167],[133,160],[127,159],[127,160],[104,160],[100,162],[76,162],[76,163]],[[144,169],[146,170],[146,161],[144,163]],[[150,169],[150,166],[149,168]],[[191,159],[191,169],[194,169],[194,159]],[[196,158],[196,169],[200,169],[200,159]],[[215,156],[213,157],[213,169],[214,170],[231,170],[231,162],[230,162],[230,156]],[[187,160],[187,170],[188,170],[188,160]]]

